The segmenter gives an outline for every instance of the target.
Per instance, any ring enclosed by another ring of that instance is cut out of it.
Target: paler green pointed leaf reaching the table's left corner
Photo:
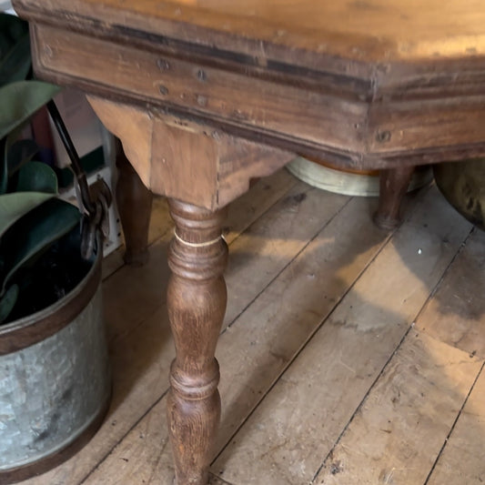
[[[17,81],[0,87],[0,138],[21,126],[58,92],[59,87],[41,81]]]

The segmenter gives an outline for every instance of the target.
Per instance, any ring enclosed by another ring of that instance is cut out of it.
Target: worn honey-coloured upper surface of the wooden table
[[[204,33],[217,32],[229,40],[254,38],[356,60],[463,56],[467,49],[473,56],[484,54],[485,49],[485,9],[480,0],[466,4],[460,0],[142,0],[129,4],[124,0],[48,0],[43,5],[61,15],[73,12],[98,18],[104,28],[141,25],[158,34],[159,22],[167,21],[181,37],[184,27],[200,27],[201,43]]]

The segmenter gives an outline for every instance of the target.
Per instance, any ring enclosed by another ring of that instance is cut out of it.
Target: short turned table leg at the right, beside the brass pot
[[[382,229],[399,226],[399,209],[406,194],[414,167],[399,167],[380,171],[379,207],[374,222]]]

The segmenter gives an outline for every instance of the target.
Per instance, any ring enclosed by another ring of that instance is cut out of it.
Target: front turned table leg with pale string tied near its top
[[[170,200],[176,223],[168,264],[168,316],[177,357],[167,417],[177,485],[205,485],[220,418],[217,338],[226,311],[224,214]]]

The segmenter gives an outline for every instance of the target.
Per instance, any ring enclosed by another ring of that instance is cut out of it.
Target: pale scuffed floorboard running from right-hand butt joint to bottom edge
[[[424,483],[480,368],[466,352],[411,330],[315,483]]]

